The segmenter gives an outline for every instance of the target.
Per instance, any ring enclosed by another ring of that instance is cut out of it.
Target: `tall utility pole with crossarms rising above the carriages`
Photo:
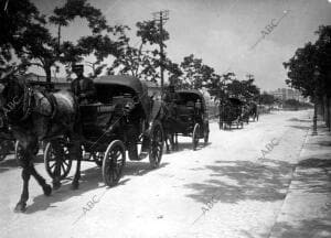
[[[153,12],[153,20],[156,22],[159,22],[159,28],[160,28],[160,39],[159,39],[159,44],[160,44],[160,72],[161,72],[161,97],[163,97],[163,84],[164,84],[164,52],[163,52],[163,24],[166,23],[167,20],[169,20],[169,10],[163,10],[159,12]]]

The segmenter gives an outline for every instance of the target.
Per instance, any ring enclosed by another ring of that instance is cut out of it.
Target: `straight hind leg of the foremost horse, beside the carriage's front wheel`
[[[78,190],[79,187],[79,180],[81,180],[81,162],[82,162],[82,148],[81,148],[81,140],[79,136],[75,134],[71,141],[72,148],[71,148],[71,159],[76,159],[77,166],[76,166],[76,173],[72,183],[72,190]]]

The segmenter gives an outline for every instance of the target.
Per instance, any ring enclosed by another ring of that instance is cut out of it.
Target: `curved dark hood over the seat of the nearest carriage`
[[[149,115],[150,99],[147,85],[129,75],[107,75],[94,79],[98,100],[109,102],[114,96],[130,94],[138,99],[146,116]]]

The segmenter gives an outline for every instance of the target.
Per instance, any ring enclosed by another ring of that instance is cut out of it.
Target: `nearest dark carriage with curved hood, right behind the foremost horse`
[[[135,77],[104,76],[94,84],[96,101],[79,106],[84,160],[102,166],[108,186],[118,183],[126,151],[132,161],[149,155],[151,166],[159,166],[163,150],[163,129],[158,118],[161,104],[153,101],[147,86]],[[72,165],[67,139],[49,142],[44,160],[53,178],[64,178]]]

